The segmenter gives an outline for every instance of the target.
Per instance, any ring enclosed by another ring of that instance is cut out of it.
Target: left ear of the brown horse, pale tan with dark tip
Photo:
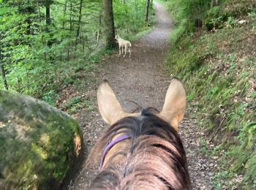
[[[124,115],[121,104],[118,102],[116,95],[108,85],[108,80],[104,80],[99,86],[97,99],[99,113],[108,124],[112,125]]]

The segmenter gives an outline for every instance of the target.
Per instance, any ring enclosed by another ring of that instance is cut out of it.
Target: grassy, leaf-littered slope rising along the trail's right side
[[[253,1],[224,1],[206,12],[203,28],[190,36],[184,35],[187,18],[176,10],[181,24],[171,38],[167,67],[186,83],[198,123],[208,130],[206,142],[216,145],[207,153],[219,156],[222,165],[214,176],[217,189],[256,186],[255,6]],[[246,24],[238,24],[243,19]],[[216,32],[207,30],[213,23]]]

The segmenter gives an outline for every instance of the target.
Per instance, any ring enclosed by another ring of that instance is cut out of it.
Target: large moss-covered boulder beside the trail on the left
[[[4,189],[58,187],[75,160],[78,123],[29,96],[0,91],[0,179]]]

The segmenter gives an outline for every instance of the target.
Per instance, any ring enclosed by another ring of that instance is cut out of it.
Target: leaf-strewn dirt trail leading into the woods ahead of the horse
[[[118,58],[117,54],[110,56],[106,60],[102,76],[99,76],[99,81],[109,80],[118,100],[127,111],[135,109],[135,104],[129,100],[137,102],[142,107],[152,106],[161,110],[170,84],[170,77],[167,77],[167,72],[162,68],[167,50],[170,48],[167,38],[171,31],[171,21],[165,7],[157,2],[154,6],[158,20],[154,30],[132,44],[131,58]],[[94,93],[96,94],[96,91]],[[94,104],[97,105],[96,100]],[[86,112],[80,111],[77,118],[83,129],[84,143],[91,149],[106,125],[97,111],[93,111],[89,117],[85,115]],[[186,115],[190,114],[187,112]],[[188,117],[184,118],[179,129],[187,149],[193,189],[211,189],[211,172],[208,165],[213,164],[214,161],[210,163],[200,153],[199,138],[203,136],[203,132],[200,132],[193,120]],[[86,153],[84,153],[85,157]],[[70,181],[68,189],[86,189],[91,178],[97,173],[97,171],[86,170],[83,165],[80,167],[82,169]]]

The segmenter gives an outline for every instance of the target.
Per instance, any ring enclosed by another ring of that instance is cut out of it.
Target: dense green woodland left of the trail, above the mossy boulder
[[[0,1],[0,88],[54,94],[73,72],[93,69],[100,51],[116,45],[115,32],[129,39],[145,30],[145,9],[143,0]]]

